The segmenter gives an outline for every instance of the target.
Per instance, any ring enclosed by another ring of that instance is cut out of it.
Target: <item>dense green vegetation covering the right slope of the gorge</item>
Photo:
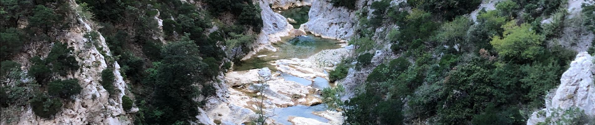
[[[559,8],[565,2],[507,0],[479,12],[477,22],[463,16],[480,2],[416,0],[389,7],[375,1],[372,18],[367,9],[359,11],[362,28],[350,41],[359,55],[356,68],[369,65],[370,50],[378,48],[369,27],[398,25],[385,40],[399,57],[372,67],[361,92],[339,106],[345,124],[525,124],[543,108],[544,95],[576,54],[557,41],[567,23]],[[549,17],[551,24],[540,23]],[[578,20],[586,27],[592,22]]]

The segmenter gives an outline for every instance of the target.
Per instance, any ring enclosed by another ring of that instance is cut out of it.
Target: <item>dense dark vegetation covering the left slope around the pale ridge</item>
[[[78,53],[59,41],[65,31],[80,26],[79,17],[98,28],[83,37],[89,40],[85,47],[96,47],[106,59],[108,67],[99,71],[99,83],[112,95],[109,98],[120,92],[114,86],[115,62],[119,63],[124,80],[130,80],[130,89],[124,92],[135,96],[125,95],[122,100],[125,110],[133,105],[140,108],[134,114],[135,124],[194,121],[203,104],[195,98],[214,94],[208,81],[230,68],[230,61],[237,61],[252,50],[250,45],[262,28],[258,5],[245,0],[199,1],[203,5],[161,0],[77,0],[78,5],[74,6],[63,0],[0,2],[1,105],[29,102],[35,114],[44,118],[59,113],[62,103],[77,98],[75,95],[82,89],[77,79],[64,79],[79,70]],[[161,28],[155,17],[162,19]],[[218,30],[207,31],[214,25]],[[100,34],[111,55],[99,46]],[[31,65],[23,73],[20,63],[11,60],[23,53],[23,47],[37,43],[53,46],[48,56],[33,53]],[[227,50],[222,46],[227,46]],[[18,80],[27,78],[33,80]],[[48,93],[40,92],[44,90]]]

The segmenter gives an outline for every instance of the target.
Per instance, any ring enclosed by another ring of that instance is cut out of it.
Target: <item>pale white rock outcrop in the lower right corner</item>
[[[560,85],[551,100],[546,100],[546,108],[536,111],[527,121],[527,125],[534,125],[546,121],[552,113],[579,108],[590,116],[595,116],[595,75],[594,58],[587,52],[578,53],[570,64],[570,68],[562,74]],[[561,110],[560,110],[561,109]],[[561,114],[561,113],[560,113]],[[552,117],[552,121],[559,117]]]

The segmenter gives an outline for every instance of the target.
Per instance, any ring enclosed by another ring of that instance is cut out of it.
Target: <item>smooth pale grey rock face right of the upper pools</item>
[[[334,7],[327,0],[312,0],[308,17],[309,21],[300,25],[300,30],[326,39],[345,40],[353,36],[356,16],[351,9]]]

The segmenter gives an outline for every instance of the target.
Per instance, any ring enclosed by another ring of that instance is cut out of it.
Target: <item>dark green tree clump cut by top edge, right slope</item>
[[[480,0],[462,1],[462,0],[408,0],[408,4],[413,7],[424,9],[450,20],[457,15],[469,14],[481,4]]]

